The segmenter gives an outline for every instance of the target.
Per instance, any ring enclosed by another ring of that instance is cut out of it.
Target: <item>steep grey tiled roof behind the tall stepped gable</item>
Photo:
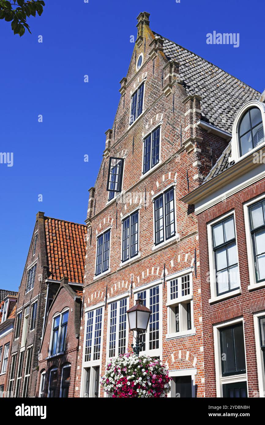
[[[231,132],[239,109],[260,93],[211,62],[154,32],[164,40],[163,51],[168,59],[180,63],[180,77],[189,95],[202,97],[202,119]]]

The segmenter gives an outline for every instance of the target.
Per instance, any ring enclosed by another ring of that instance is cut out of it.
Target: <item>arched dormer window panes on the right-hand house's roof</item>
[[[243,115],[239,124],[240,155],[264,142],[264,130],[262,116],[259,108],[250,108]]]

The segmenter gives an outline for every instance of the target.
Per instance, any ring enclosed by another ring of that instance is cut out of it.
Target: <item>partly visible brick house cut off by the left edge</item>
[[[0,397],[6,396],[17,292],[0,289]]]

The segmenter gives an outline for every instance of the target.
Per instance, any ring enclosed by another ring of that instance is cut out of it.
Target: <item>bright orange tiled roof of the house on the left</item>
[[[87,227],[84,224],[45,217],[49,279],[68,276],[70,282],[83,283]]]

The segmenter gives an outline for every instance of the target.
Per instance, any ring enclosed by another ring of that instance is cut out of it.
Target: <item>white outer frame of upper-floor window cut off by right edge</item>
[[[249,291],[251,291],[252,289],[259,289],[259,288],[265,287],[265,280],[262,282],[256,283],[254,251],[253,251],[251,229],[250,229],[250,222],[249,222],[249,207],[251,207],[252,204],[256,204],[257,202],[260,202],[264,199],[265,199],[265,195],[262,194],[258,196],[257,198],[251,199],[250,201],[246,202],[243,206],[244,218],[245,218],[245,229],[246,229],[247,253],[248,253],[248,270],[249,270],[248,290]]]

